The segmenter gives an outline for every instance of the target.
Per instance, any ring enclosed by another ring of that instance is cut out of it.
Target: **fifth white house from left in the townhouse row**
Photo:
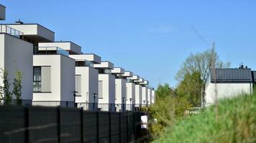
[[[116,111],[125,111],[125,105],[127,100],[127,81],[123,79],[122,74],[124,74],[124,69],[120,67],[115,67],[111,70],[111,74],[115,77],[115,104]]]

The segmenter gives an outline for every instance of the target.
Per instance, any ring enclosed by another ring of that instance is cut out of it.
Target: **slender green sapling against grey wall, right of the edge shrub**
[[[22,71],[17,70],[15,72],[15,79],[13,82],[14,85],[14,89],[12,91],[12,93],[15,95],[16,97],[16,104],[21,105],[22,104]]]

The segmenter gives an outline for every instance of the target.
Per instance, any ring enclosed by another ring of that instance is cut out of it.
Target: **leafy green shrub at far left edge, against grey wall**
[[[9,92],[9,73],[7,69],[1,69],[4,87],[1,87],[1,95],[4,97],[4,104],[10,104],[12,102],[12,92]]]

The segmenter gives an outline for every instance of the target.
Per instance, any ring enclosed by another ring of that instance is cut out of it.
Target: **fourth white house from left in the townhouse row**
[[[101,111],[115,111],[115,77],[111,74],[114,64],[109,61],[101,61],[101,64],[93,64],[95,69],[99,69],[99,104]]]

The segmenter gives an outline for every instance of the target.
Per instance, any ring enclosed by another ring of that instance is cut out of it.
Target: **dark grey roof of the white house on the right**
[[[252,71],[251,69],[215,69],[215,71],[211,69],[211,82],[252,82]]]

